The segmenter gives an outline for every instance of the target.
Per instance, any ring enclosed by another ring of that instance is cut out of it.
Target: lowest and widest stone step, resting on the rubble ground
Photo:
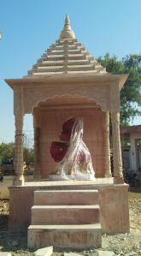
[[[102,246],[101,224],[31,225],[28,228],[27,243],[29,248],[98,248]]]

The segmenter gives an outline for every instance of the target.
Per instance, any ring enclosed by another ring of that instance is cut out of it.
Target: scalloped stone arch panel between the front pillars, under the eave
[[[45,102],[48,98],[62,98],[64,96],[77,96],[87,98],[88,103],[95,100],[102,110],[109,110],[109,98],[107,97],[107,89],[104,86],[86,87],[86,86],[63,86],[57,91],[53,86],[50,88],[32,90],[28,88],[24,90],[25,113],[32,113],[34,107],[40,102]]]

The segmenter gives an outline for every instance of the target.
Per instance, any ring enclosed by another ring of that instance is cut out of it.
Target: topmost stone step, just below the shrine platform
[[[39,190],[34,205],[98,205],[98,190]]]

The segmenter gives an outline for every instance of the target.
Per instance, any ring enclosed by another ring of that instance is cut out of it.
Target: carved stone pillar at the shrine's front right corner
[[[114,181],[123,183],[122,158],[120,148],[120,112],[111,113],[112,138],[113,138],[113,160],[114,160]]]

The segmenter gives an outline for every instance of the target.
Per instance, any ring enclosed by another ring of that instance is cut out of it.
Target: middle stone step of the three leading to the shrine
[[[99,223],[99,205],[34,205],[32,224]]]

